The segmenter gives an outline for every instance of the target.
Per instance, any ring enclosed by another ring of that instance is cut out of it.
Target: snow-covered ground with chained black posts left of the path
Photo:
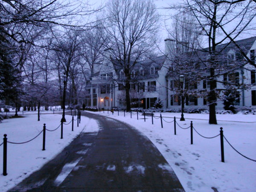
[[[24,118],[3,120],[3,122],[0,123],[0,144],[3,142],[3,134],[7,134],[8,141],[21,143],[31,140],[38,135],[43,130],[44,123],[48,130],[53,130],[61,124],[61,114],[53,114],[53,111],[42,111],[40,116],[41,120],[38,121],[37,112],[38,111],[27,111],[24,113]],[[70,115],[66,115],[65,118],[67,123],[72,120],[72,116]],[[74,116],[74,119],[76,118],[77,116]],[[79,124],[79,127],[77,127],[77,121],[74,122],[74,131],[72,131],[72,123],[69,125],[63,125],[63,139],[61,139],[61,127],[56,131],[46,131],[45,151],[42,151],[43,134],[40,134],[35,138],[35,140],[32,140],[29,143],[8,143],[8,175],[6,176],[3,176],[2,174],[3,145],[0,146],[0,192],[5,192],[14,187],[24,178],[28,177],[32,172],[40,169],[45,163],[53,159],[69,143],[71,143],[73,139],[81,133],[81,131],[98,132],[98,130],[99,127],[95,120],[81,116],[81,123]]]

